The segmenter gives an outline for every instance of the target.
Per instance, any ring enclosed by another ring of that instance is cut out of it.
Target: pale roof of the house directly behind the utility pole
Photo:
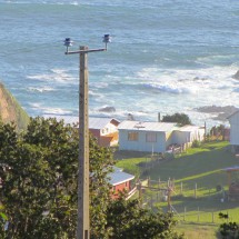
[[[79,117],[74,117],[74,116],[52,116],[52,117],[57,118],[58,120],[63,119],[66,123],[78,123],[79,122]],[[108,123],[118,126],[120,123],[120,121],[117,119],[113,119],[113,118],[89,117],[89,128],[90,129],[102,129]]]

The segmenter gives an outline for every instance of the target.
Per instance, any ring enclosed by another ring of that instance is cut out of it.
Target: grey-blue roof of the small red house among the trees
[[[135,179],[135,176],[123,172],[122,169],[113,167],[113,172],[108,175],[110,185],[117,186]]]

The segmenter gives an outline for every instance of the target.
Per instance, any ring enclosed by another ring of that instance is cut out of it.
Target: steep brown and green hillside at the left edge
[[[0,120],[3,123],[14,122],[18,130],[26,129],[29,116],[14,97],[0,83]]]

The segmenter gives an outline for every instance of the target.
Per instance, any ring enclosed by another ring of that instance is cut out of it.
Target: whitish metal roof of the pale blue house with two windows
[[[119,130],[160,131],[168,132],[178,129],[175,122],[141,122],[125,120],[118,126]]]

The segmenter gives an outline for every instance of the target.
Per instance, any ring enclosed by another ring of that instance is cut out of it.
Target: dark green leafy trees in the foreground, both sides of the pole
[[[21,135],[0,125],[0,238],[76,238],[78,137],[56,119],[31,119]],[[171,216],[111,200],[112,165],[111,151],[90,139],[91,239],[179,238]]]

